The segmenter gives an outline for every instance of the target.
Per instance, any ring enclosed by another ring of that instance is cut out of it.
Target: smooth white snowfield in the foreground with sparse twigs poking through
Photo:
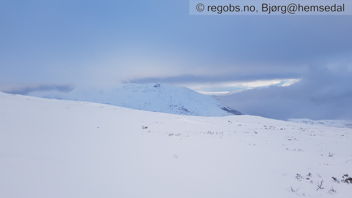
[[[352,176],[351,141],[348,128],[0,92],[0,197],[351,197],[331,178]]]

